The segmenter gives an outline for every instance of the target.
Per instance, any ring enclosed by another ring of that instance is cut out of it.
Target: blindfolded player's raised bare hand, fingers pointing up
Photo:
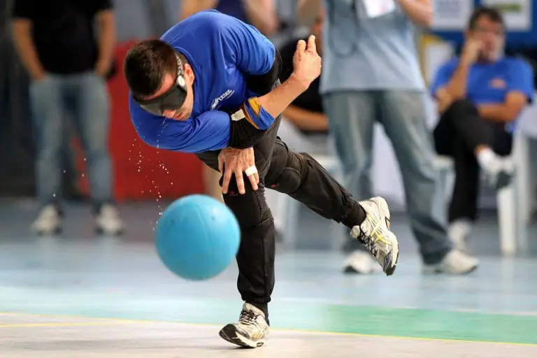
[[[293,57],[293,76],[300,80],[306,88],[310,87],[315,78],[321,74],[321,57],[317,53],[315,36],[308,37],[306,41],[299,41]]]

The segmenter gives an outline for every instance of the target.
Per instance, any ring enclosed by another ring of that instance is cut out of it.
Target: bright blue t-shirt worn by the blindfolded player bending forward
[[[152,115],[129,95],[138,136],[153,147],[180,152],[226,148],[231,130],[228,112],[256,96],[246,88],[245,75],[264,75],[271,70],[274,45],[255,27],[217,10],[201,11],[182,20],[161,39],[185,55],[194,69],[192,117],[180,121]],[[256,124],[266,129],[272,121]]]

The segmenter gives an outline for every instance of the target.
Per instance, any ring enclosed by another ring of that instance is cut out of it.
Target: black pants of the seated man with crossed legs
[[[504,127],[505,124],[484,120],[467,100],[452,103],[441,116],[434,130],[436,151],[452,157],[455,166],[449,222],[477,219],[480,167],[475,149],[487,145],[498,155],[509,155],[513,137]]]

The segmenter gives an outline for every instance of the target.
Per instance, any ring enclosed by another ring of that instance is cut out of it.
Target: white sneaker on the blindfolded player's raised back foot
[[[392,275],[399,259],[399,243],[389,231],[388,203],[378,196],[359,203],[366,211],[366,220],[353,227],[350,234],[366,245],[387,276]]]

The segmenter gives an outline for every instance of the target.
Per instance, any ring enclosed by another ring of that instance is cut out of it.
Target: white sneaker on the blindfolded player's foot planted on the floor
[[[268,323],[263,311],[244,303],[238,323],[227,324],[220,330],[220,337],[242,347],[261,347],[268,339]]]

